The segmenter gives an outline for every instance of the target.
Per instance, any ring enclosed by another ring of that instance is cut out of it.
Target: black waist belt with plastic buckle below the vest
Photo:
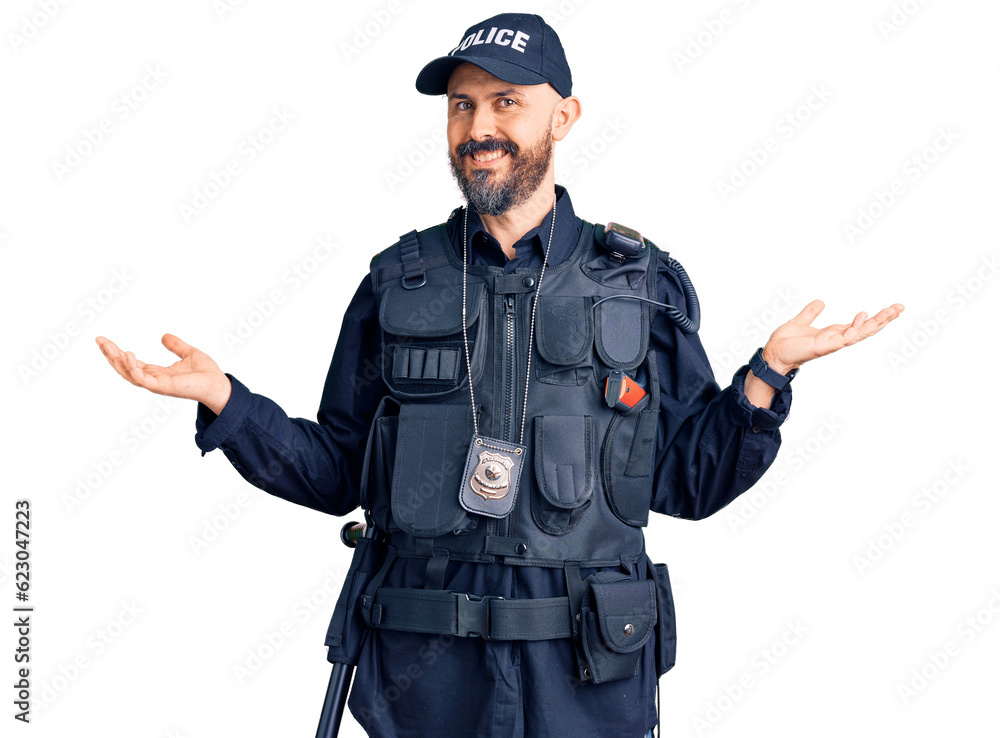
[[[479,636],[487,640],[544,641],[573,634],[568,597],[503,597],[381,587],[371,625],[410,633]]]

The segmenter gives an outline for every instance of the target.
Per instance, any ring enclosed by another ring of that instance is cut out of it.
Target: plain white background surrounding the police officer
[[[371,256],[460,202],[434,142],[444,105],[415,91],[418,70],[474,22],[529,8],[558,30],[583,103],[557,181],[581,217],[635,227],[685,265],[723,387],[813,298],[827,305],[817,325],[906,305],[802,369],[758,487],[698,523],[653,516],[648,547],[670,564],[678,611],[664,734],[997,733],[1000,280],[981,260],[1000,251],[1000,7],[232,5],[2,11],[0,599],[13,607],[13,501],[28,498],[36,608],[30,727],[13,721],[3,627],[3,734],[313,735],[343,521],[255,490],[220,452],[202,458],[193,403],[157,410],[94,336],[170,363],[159,338],[176,333],[315,418]],[[249,161],[241,145],[276,108],[294,120]],[[103,118],[112,129],[88,150]],[[768,138],[777,150],[755,164],[748,150]],[[943,150],[923,153],[935,140]],[[185,218],[234,159],[240,174]],[[751,173],[724,196],[741,166]],[[893,180],[905,191],[880,211]],[[874,217],[852,239],[859,208]],[[318,238],[337,247],[317,266]],[[288,270],[310,267],[293,289]],[[283,303],[258,320],[275,289]],[[256,327],[227,345],[241,320]],[[196,552],[201,536],[213,540]],[[282,626],[291,635],[269,649]],[[949,642],[957,655],[935,667]],[[253,670],[251,652],[266,656]],[[346,721],[344,735],[362,734]]]

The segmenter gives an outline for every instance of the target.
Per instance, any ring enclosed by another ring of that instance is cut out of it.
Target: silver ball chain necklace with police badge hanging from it
[[[527,446],[524,445],[524,418],[528,414],[528,382],[531,379],[531,348],[535,338],[535,310],[538,308],[538,294],[545,277],[545,267],[549,263],[549,249],[556,227],[556,205],[552,203],[552,223],[549,226],[549,242],[545,246],[542,271],[538,275],[538,287],[531,306],[531,324],[528,331],[528,368],[524,377],[524,404],[521,408],[521,432],[517,443],[490,438],[479,434],[476,417],[476,394],[472,388],[472,359],[469,357],[469,336],[466,329],[467,272],[468,272],[468,224],[469,208],[465,207],[462,219],[462,341],[465,344],[465,365],[469,373],[469,399],[472,402],[472,441],[466,455],[465,471],[462,475],[462,489],[459,501],[469,512],[503,518],[514,508],[517,497],[517,483],[521,478],[521,468]],[[513,377],[511,378],[513,381]]]

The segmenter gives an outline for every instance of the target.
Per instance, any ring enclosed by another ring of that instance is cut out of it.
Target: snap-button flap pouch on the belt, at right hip
[[[609,572],[603,574],[592,576],[606,579]],[[642,647],[655,624],[656,587],[651,580],[591,581],[580,608],[580,638],[590,679],[602,684],[638,674]]]

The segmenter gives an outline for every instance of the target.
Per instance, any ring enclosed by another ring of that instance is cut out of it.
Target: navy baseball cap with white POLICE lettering
[[[501,13],[477,23],[462,41],[427,64],[417,75],[425,95],[448,93],[448,78],[463,62],[515,85],[550,83],[563,97],[572,94],[573,78],[559,36],[539,15]]]

